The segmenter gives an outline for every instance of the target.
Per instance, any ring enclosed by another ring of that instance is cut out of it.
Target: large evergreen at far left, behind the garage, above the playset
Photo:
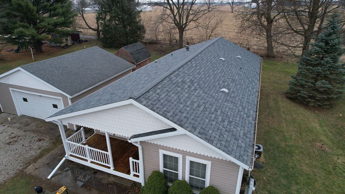
[[[49,39],[50,33],[63,36],[72,32],[67,28],[76,13],[71,0],[12,0],[2,15],[8,18],[4,31],[16,37],[12,41],[29,38],[36,52],[42,52],[41,41]]]

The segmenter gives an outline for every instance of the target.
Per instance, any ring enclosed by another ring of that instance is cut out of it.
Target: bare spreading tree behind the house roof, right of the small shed
[[[176,26],[178,30],[178,48],[183,48],[184,32],[196,28],[199,19],[218,6],[214,3],[208,7],[197,3],[197,0],[164,0],[159,2],[149,1],[148,3],[162,7],[161,18],[163,21]],[[195,25],[190,25],[192,23]]]

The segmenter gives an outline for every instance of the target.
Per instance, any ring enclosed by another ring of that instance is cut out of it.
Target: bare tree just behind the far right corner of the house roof
[[[239,13],[242,19],[241,27],[243,30],[256,30],[266,39],[266,56],[274,57],[272,28],[279,19],[280,11],[277,10],[278,0],[252,0],[249,7]]]

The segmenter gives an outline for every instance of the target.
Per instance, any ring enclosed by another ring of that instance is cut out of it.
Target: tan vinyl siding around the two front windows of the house
[[[140,142],[142,146],[145,181],[152,171],[159,171],[159,149],[183,155],[182,179],[185,179],[186,156],[211,162],[210,185],[216,187],[220,193],[235,193],[239,166],[223,159],[181,151],[170,147],[160,146],[148,142]]]

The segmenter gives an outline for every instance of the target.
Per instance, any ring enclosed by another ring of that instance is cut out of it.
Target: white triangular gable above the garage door
[[[44,81],[34,78],[32,75],[22,71],[19,68],[8,75],[0,77],[0,82],[5,84],[12,84],[17,86],[24,86],[28,88],[35,88],[60,93],[56,89],[50,87]]]

